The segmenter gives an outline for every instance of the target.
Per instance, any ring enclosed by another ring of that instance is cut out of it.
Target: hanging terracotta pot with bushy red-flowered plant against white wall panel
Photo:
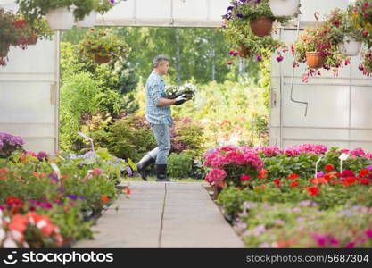
[[[305,29],[299,40],[293,44],[293,66],[299,66],[299,63],[308,63],[309,71],[305,74],[304,80],[306,76],[320,74],[314,69],[332,69],[336,74],[343,63],[345,65],[350,63],[350,58],[341,54],[338,47],[333,44],[330,34],[329,23],[323,23],[318,27]]]

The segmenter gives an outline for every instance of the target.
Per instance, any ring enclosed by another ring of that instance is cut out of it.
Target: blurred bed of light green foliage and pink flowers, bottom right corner
[[[244,203],[235,226],[247,247],[371,247],[372,210],[341,205]]]

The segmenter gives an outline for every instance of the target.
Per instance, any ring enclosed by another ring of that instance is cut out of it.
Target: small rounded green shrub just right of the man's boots
[[[187,153],[179,155],[172,153],[168,157],[168,173],[172,177],[189,177],[193,163],[193,156]]]

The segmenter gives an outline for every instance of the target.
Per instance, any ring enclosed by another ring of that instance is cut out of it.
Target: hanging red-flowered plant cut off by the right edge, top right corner
[[[362,42],[372,47],[372,0],[357,0],[352,7],[354,27],[362,31]]]

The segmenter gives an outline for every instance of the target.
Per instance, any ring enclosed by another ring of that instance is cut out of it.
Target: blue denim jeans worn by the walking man
[[[166,124],[150,124],[156,138],[158,147],[154,148],[149,155],[156,158],[157,164],[167,164],[170,151],[170,129]]]

